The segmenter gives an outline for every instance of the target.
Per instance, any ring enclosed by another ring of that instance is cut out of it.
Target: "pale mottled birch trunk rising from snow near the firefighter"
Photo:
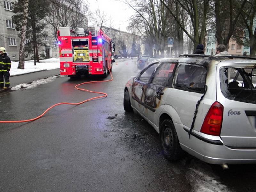
[[[18,69],[24,69],[24,51],[25,51],[25,38],[26,38],[26,28],[28,20],[28,0],[24,1],[24,15],[22,21],[22,27],[20,31],[20,51],[19,51],[19,65]]]

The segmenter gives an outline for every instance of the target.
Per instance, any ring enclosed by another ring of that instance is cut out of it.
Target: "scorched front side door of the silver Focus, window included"
[[[150,81],[159,62],[152,63],[147,68],[142,70],[138,76],[135,77],[132,83],[132,101],[131,104],[141,115],[144,115],[144,93],[147,83]]]

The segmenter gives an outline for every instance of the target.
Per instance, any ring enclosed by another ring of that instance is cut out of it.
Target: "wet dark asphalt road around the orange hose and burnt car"
[[[124,85],[139,72],[135,61],[114,63],[112,82],[81,86],[107,98],[57,106],[30,123],[0,124],[0,191],[256,191],[256,165],[223,171],[189,155],[178,162],[162,156],[156,131],[123,109]],[[55,103],[94,97],[74,88],[90,80],[97,79],[60,76],[33,89],[1,92],[0,119],[30,119]]]

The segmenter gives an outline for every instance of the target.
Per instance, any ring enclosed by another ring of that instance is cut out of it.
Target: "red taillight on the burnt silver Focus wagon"
[[[208,135],[220,135],[223,117],[223,106],[215,101],[210,107],[200,132]]]

